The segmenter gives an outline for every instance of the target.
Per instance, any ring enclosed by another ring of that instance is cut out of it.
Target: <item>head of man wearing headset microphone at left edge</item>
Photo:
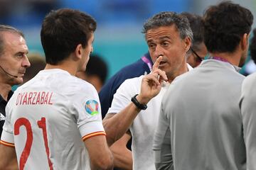
[[[4,77],[6,84],[11,86],[23,83],[23,76],[26,72],[26,68],[30,67],[28,62],[28,46],[26,40],[17,33],[3,32],[1,36],[4,40],[4,51],[0,56],[1,67],[16,77],[7,75],[2,69],[0,70],[1,77]]]

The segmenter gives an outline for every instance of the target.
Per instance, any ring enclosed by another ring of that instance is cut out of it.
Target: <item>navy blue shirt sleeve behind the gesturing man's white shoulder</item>
[[[102,118],[105,118],[105,115],[111,106],[113,96],[119,86],[124,82],[124,80],[140,77],[144,74],[149,74],[149,72],[151,72],[152,65],[153,62],[151,57],[149,53],[146,53],[139,60],[137,60],[137,62],[129,64],[126,67],[120,69],[117,74],[114,74],[114,76],[107,81],[99,94],[102,108]]]

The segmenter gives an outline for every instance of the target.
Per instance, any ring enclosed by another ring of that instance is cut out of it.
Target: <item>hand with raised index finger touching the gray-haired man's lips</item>
[[[139,103],[148,103],[151,98],[154,98],[154,96],[159,94],[163,81],[168,80],[166,77],[166,73],[158,68],[161,59],[161,56],[157,58],[156,62],[153,65],[152,72],[150,74],[147,74],[142,79],[141,92],[137,96],[137,100],[139,101]]]

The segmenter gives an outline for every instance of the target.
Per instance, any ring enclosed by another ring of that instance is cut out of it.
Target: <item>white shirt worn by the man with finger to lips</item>
[[[192,67],[188,65],[188,69]],[[112,106],[107,113],[119,113],[130,102],[135,94],[139,94],[142,84],[142,78],[136,77],[127,79],[119,86],[117,93],[114,94]],[[159,118],[161,98],[164,96],[168,85],[162,86],[160,93],[147,103],[145,111],[140,111],[134,119],[129,130],[132,133],[132,158],[133,169],[155,169],[154,154],[152,150],[154,131]]]

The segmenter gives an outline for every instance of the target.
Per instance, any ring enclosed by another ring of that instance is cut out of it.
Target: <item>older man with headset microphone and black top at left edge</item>
[[[28,61],[28,46],[23,33],[11,26],[0,25],[0,137],[5,120],[11,86],[22,84]]]

